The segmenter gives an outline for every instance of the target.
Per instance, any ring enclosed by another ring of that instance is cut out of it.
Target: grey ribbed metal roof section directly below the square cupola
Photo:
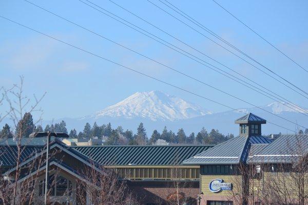
[[[272,140],[263,136],[238,136],[223,142],[205,152],[183,161],[184,165],[217,165],[246,162],[249,150],[254,144],[268,144]]]

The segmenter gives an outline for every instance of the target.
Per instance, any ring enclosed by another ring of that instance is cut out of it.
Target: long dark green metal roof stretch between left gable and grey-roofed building
[[[183,160],[204,152],[209,145],[174,146],[76,146],[72,149],[100,165],[180,165]]]

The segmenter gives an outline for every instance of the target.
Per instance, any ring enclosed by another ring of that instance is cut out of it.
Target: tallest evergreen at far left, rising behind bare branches
[[[18,137],[29,137],[29,135],[34,130],[34,124],[32,115],[29,112],[26,112],[24,114],[23,119],[21,119],[18,124],[15,131],[15,135]]]

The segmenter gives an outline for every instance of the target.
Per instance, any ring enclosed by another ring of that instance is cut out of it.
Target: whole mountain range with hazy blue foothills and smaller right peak
[[[290,129],[297,129],[294,124],[283,118],[296,122],[298,125],[307,125],[307,116],[302,110],[297,112],[281,103],[271,103],[260,106],[260,108],[267,112],[259,108],[242,108],[239,110],[245,113],[252,112],[266,119],[268,123],[262,126],[263,134],[290,133]],[[306,108],[305,110],[308,111]],[[65,120],[69,130],[75,128],[81,131],[86,122],[93,125],[96,121],[98,125],[110,122],[113,128],[122,126],[124,129],[136,131],[140,122],[143,122],[148,134],[155,129],[162,131],[164,126],[167,126],[168,129],[174,132],[177,132],[179,128],[183,128],[186,134],[197,133],[202,127],[205,127],[207,130],[218,129],[224,134],[234,133],[237,135],[238,125],[234,124],[234,120],[243,116],[242,112],[229,110],[213,113],[179,97],[159,91],[150,91],[137,92],[117,104],[82,118],[45,121],[44,126]]]

